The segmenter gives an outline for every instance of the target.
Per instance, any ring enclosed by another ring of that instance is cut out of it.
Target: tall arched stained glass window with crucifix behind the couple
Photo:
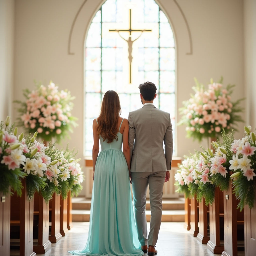
[[[122,117],[128,118],[142,107],[138,85],[145,81],[157,87],[155,106],[170,113],[175,142],[175,43],[156,2],[107,0],[92,20],[84,48],[85,155],[92,155],[92,122],[104,93],[119,94]]]

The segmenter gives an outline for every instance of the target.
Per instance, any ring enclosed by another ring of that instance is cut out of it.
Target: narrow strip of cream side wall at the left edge
[[[14,0],[0,1],[0,120],[12,113]]]

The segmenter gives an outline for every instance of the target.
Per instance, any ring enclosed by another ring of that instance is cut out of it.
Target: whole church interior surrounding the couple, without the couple
[[[0,52],[0,256],[83,249],[93,120],[145,81],[173,125],[157,255],[256,255],[256,0],[0,0]]]

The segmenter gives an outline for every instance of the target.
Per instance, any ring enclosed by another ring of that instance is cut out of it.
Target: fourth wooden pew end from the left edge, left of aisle
[[[54,193],[52,199],[49,202],[49,226],[51,226],[51,232],[49,234],[49,240],[51,243],[57,243],[61,239],[60,234],[60,195]]]

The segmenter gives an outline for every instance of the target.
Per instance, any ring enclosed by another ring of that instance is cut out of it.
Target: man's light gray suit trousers
[[[162,219],[162,198],[166,172],[132,172],[135,221],[141,245],[156,245]],[[150,231],[147,239],[146,194],[150,194]]]

